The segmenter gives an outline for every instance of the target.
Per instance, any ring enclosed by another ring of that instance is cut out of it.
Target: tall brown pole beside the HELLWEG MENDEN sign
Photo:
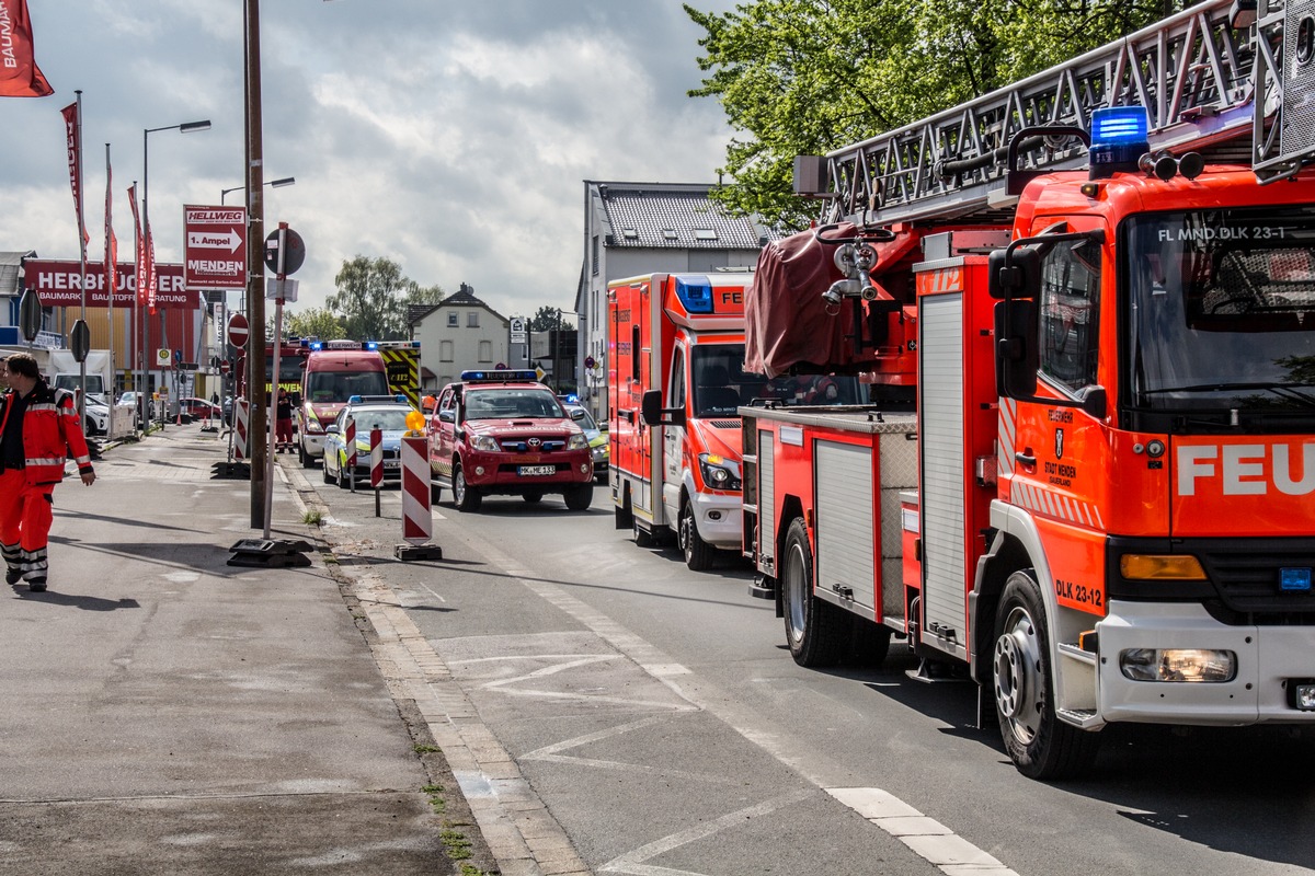
[[[260,3],[246,0],[246,123],[247,123],[247,394],[251,441],[251,527],[264,529],[264,466],[267,402],[264,391],[264,147],[260,118]]]

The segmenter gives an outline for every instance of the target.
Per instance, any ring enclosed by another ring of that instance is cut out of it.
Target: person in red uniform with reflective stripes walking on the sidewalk
[[[0,395],[0,553],[5,582],[46,588],[46,545],[54,519],[55,485],[72,454],[82,482],[91,486],[87,439],[71,395],[55,395],[41,380],[37,360],[14,353],[5,360],[9,390]]]

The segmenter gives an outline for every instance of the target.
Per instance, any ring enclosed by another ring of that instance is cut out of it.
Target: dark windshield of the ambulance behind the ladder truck
[[[744,370],[744,344],[698,344],[690,381],[694,416],[734,416],[740,405],[859,405],[859,380],[781,374],[768,380]]]

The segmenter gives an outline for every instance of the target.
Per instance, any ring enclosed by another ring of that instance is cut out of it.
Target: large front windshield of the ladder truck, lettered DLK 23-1
[[[1157,213],[1119,239],[1132,408],[1312,414],[1315,210]]]

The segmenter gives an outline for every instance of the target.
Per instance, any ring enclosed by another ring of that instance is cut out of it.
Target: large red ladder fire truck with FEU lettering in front
[[[751,592],[801,665],[896,633],[977,682],[1028,776],[1112,722],[1315,722],[1315,18],[1236,5],[800,162],[825,225],[747,293],[750,370],[889,389],[740,408]]]

